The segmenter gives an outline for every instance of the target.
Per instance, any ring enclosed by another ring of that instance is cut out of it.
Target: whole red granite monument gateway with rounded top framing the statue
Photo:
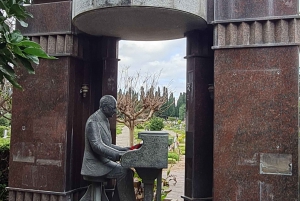
[[[80,175],[84,125],[102,95],[116,97],[118,41],[182,37],[183,199],[299,199],[297,0],[33,2],[35,18],[22,32],[59,59],[41,61],[35,76],[19,72],[11,201],[79,200],[87,186]]]

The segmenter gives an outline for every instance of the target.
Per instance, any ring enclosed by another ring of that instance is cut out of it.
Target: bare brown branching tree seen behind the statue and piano
[[[129,128],[130,146],[133,145],[135,126],[148,121],[168,100],[167,95],[159,93],[159,75],[160,72],[143,77],[137,72],[136,75],[130,76],[128,68],[121,74],[117,97],[117,122],[124,123]]]

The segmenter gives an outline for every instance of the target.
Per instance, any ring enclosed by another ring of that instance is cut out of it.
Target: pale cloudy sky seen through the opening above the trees
[[[120,41],[119,75],[129,67],[129,73],[159,73],[159,86],[170,88],[176,99],[186,88],[186,39],[169,41]]]

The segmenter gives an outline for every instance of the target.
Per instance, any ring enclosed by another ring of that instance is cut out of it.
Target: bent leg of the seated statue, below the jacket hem
[[[131,169],[118,164],[106,177],[117,179],[117,191],[120,201],[135,201],[133,172]]]

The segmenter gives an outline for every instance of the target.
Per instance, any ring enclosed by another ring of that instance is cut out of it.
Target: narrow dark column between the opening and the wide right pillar
[[[187,114],[184,200],[212,198],[213,84],[212,29],[187,37]]]

